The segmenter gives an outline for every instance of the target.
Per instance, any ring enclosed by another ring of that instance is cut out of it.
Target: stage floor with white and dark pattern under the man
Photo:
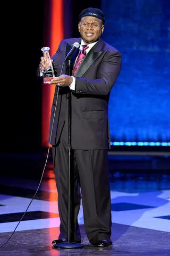
[[[90,245],[84,232],[82,207],[79,224],[84,247],[53,248],[60,225],[53,170],[45,172],[33,201],[40,180],[1,176],[0,255],[170,255],[169,177],[152,173],[148,179],[149,174],[141,170],[140,175],[126,172],[123,178],[118,174],[111,174],[113,246],[104,249]]]

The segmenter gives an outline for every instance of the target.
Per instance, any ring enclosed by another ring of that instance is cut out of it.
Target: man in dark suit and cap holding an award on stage
[[[111,89],[121,70],[122,58],[117,49],[101,38],[104,23],[104,13],[101,10],[91,7],[83,10],[79,15],[78,24],[81,37],[62,40],[55,55],[52,56],[55,78],[50,83],[56,84],[56,89],[51,109],[49,143],[53,146],[61,220],[60,235],[53,244],[67,239],[68,93],[70,91],[71,147],[74,166],[72,241],[81,243],[78,213],[82,196],[84,229],[90,243],[98,247],[112,245],[108,102]],[[78,42],[80,47],[73,51],[70,56],[71,64],[68,65],[68,60],[64,61],[64,59],[75,42]],[[82,54],[80,51],[83,45],[88,46],[84,50],[86,57],[81,61],[80,67],[77,67],[77,58]],[[38,76],[44,68],[44,58],[41,57]]]

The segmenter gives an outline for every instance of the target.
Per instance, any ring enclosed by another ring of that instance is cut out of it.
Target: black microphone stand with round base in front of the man
[[[69,76],[70,76],[70,57],[68,58],[69,60]],[[74,227],[74,223],[71,222],[71,216],[72,216],[72,209],[71,207],[71,201],[72,201],[72,186],[71,186],[71,181],[74,179],[71,177],[71,174],[73,175],[73,172],[71,172],[71,167],[73,168],[72,164],[72,146],[71,146],[71,90],[69,89],[69,99],[68,99],[68,125],[69,125],[69,130],[68,130],[68,205],[67,205],[67,210],[68,210],[68,216],[67,216],[67,225],[68,225],[68,230],[67,230],[67,241],[68,242],[62,242],[58,244],[54,244],[53,246],[55,248],[61,248],[61,249],[77,249],[77,248],[82,248],[84,245],[80,243],[75,243],[71,241],[71,227]],[[74,219],[74,218],[72,218]],[[73,228],[74,229],[74,228]]]

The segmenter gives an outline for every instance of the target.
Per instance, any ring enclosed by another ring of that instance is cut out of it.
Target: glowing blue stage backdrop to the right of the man
[[[103,38],[122,54],[109,103],[111,141],[170,145],[169,0],[103,0],[101,9]]]

